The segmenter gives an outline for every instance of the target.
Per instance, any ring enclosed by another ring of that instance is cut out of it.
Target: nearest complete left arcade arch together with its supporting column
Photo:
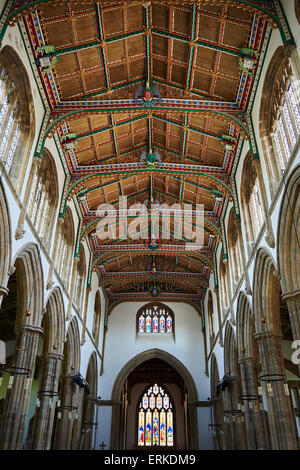
[[[29,243],[15,256],[14,279],[15,315],[13,322],[14,352],[10,365],[28,370],[26,375],[16,375],[11,389],[7,389],[1,415],[0,445],[2,449],[21,449],[26,429],[26,418],[33,382],[43,313],[44,282],[38,247]],[[11,299],[9,295],[7,301]],[[6,299],[5,299],[6,301]],[[2,309],[5,307],[2,303]],[[24,370],[23,369],[23,370]]]

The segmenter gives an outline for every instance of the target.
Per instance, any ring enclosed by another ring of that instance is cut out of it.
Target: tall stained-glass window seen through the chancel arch
[[[140,447],[174,446],[174,406],[164,387],[148,386],[139,399],[137,444]]]

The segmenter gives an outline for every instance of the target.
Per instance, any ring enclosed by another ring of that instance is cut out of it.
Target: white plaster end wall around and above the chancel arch
[[[199,400],[209,397],[209,379],[205,375],[204,342],[202,336],[201,318],[198,312],[185,303],[165,302],[175,314],[175,340],[168,335],[136,335],[136,312],[145,303],[124,302],[117,305],[108,320],[104,352],[104,371],[100,378],[100,395],[102,400],[110,400],[115,380],[120,370],[138,354],[150,350],[161,349],[178,359],[192,375]],[[100,407],[99,421],[107,422],[111,411],[107,406]],[[204,409],[203,409],[204,410]],[[203,412],[204,413],[204,412]],[[203,433],[207,434],[203,423],[198,423],[199,445],[208,448]],[[208,425],[208,422],[207,422]],[[97,442],[109,445],[110,426],[101,426]],[[203,427],[204,426],[204,427]],[[205,442],[205,443],[204,443]],[[210,447],[209,447],[210,448]]]

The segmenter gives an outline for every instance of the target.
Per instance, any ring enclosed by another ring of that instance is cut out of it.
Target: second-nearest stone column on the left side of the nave
[[[60,354],[46,353],[43,356],[41,391],[57,392],[62,360],[63,356]],[[40,407],[36,410],[32,439],[32,449],[34,450],[49,450],[51,447],[55,407],[58,399],[57,396],[42,395],[40,397]],[[49,406],[50,400],[52,400],[51,408]]]

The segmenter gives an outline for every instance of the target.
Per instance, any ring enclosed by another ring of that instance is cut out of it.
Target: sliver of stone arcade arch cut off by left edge
[[[0,306],[3,295],[8,293],[7,282],[11,262],[11,223],[7,200],[0,182]]]

